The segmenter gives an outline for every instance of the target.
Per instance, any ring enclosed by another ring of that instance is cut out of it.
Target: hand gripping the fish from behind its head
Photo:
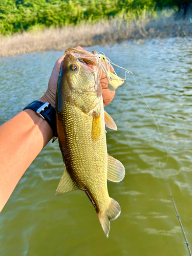
[[[76,47],[77,49],[81,50],[81,51],[85,51],[82,47],[78,46]],[[65,55],[61,56],[55,63],[55,66],[53,68],[53,71],[51,73],[50,79],[49,79],[49,83],[48,83],[48,89],[46,91],[46,93],[44,94],[44,96],[42,96],[39,100],[44,101],[44,102],[49,102],[51,103],[51,105],[55,108],[55,94],[56,94],[56,90],[57,90],[57,80],[58,80],[58,76],[59,76],[59,71],[60,71],[60,65],[61,62],[63,60],[63,58],[65,57]],[[110,68],[110,71],[113,72],[113,68]],[[103,72],[101,75],[101,87],[102,87],[102,97],[103,97],[103,103],[104,106],[109,104],[112,99],[115,96],[115,91],[110,91],[108,89],[108,83],[109,83],[109,79],[106,78],[105,73]]]

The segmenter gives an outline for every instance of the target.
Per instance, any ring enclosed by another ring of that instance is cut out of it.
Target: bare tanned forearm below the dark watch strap
[[[0,126],[0,211],[26,169],[52,137],[48,122],[29,109]]]

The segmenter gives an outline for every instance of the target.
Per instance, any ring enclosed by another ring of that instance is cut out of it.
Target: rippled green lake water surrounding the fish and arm
[[[108,152],[126,170],[122,182],[108,183],[110,196],[121,206],[120,217],[111,222],[109,239],[83,191],[55,196],[63,172],[56,141],[33,161],[0,214],[0,255],[187,256],[159,162],[192,248],[191,39],[88,50],[103,51],[134,73],[159,125],[168,160],[150,111],[129,74],[105,107],[118,127],[117,132],[107,130]],[[45,92],[54,62],[62,54],[50,51],[0,59],[1,124]],[[116,71],[124,76],[122,70]]]

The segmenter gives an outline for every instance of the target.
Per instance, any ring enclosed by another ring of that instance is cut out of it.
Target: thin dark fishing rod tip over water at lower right
[[[165,173],[164,173],[164,169],[163,169],[163,167],[162,167],[161,162],[159,162],[159,166],[160,166],[161,172],[162,172],[162,174],[163,174],[163,178],[164,178],[164,181],[165,181],[165,183],[166,183],[166,187],[167,187],[167,189],[168,189],[169,196],[170,196],[170,198],[172,199],[173,207],[174,207],[174,209],[175,209],[176,216],[177,216],[177,218],[178,218],[178,221],[179,221],[179,224],[180,224],[180,226],[181,226],[182,233],[183,233],[183,236],[184,236],[184,239],[185,239],[185,244],[187,245],[187,248],[188,248],[188,251],[189,251],[190,256],[192,256],[191,251],[190,251],[190,247],[189,247],[189,244],[188,244],[188,241],[187,241],[187,238],[186,238],[186,234],[185,234],[185,231],[184,231],[184,228],[183,228],[183,225],[182,225],[180,216],[179,216],[179,212],[178,212],[178,210],[177,210],[176,203],[175,203],[174,197],[173,197],[173,195],[172,195],[172,191],[170,190],[170,186],[169,186],[168,181],[167,181],[167,179],[166,179],[166,175],[165,175]]]

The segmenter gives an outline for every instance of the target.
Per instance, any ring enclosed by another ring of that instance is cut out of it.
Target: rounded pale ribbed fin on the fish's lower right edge
[[[125,169],[122,163],[108,155],[108,180],[120,182],[124,179]]]

